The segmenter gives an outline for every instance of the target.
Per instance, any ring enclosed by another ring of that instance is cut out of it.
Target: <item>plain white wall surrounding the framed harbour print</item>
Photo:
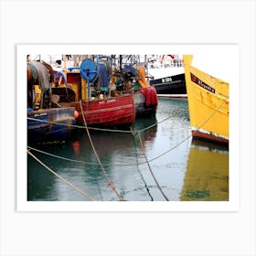
[[[1,256],[256,255],[254,0],[0,0],[0,5]],[[27,43],[239,44],[240,211],[17,213],[16,44]]]

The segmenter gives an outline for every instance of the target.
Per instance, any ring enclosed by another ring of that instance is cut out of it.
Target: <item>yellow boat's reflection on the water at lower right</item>
[[[228,148],[193,140],[180,200],[229,200]]]

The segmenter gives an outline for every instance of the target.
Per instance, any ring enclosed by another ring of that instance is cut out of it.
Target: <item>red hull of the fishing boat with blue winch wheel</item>
[[[75,107],[80,113],[77,123],[83,125],[80,102],[61,102],[62,106]],[[88,126],[97,127],[129,127],[135,120],[135,109],[132,95],[116,98],[82,101],[82,111]]]

